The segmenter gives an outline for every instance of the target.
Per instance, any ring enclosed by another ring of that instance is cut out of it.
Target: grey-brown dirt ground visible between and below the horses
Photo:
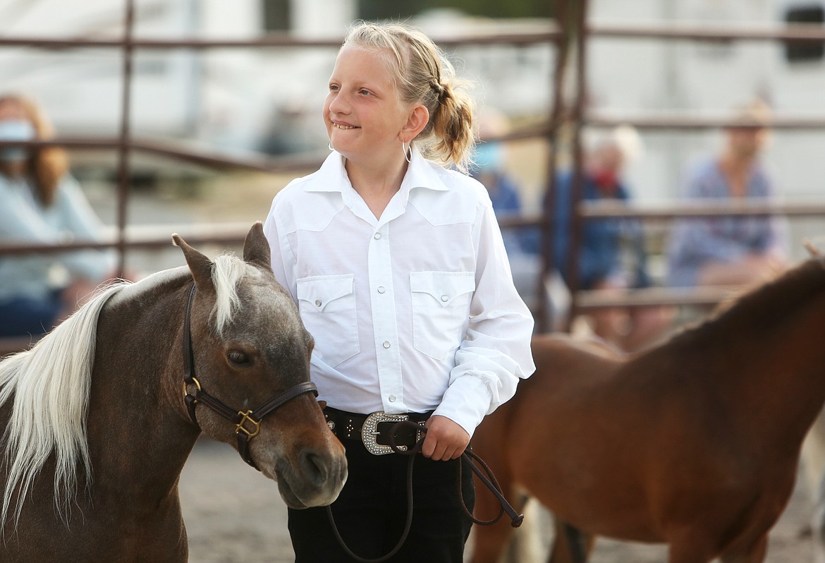
[[[192,563],[294,561],[277,485],[243,463],[231,447],[208,439],[198,442],[184,467],[180,488]],[[812,542],[801,533],[810,513],[808,496],[798,486],[771,532],[766,563],[813,561]],[[591,563],[665,561],[664,546],[606,539],[597,542],[591,559]]]

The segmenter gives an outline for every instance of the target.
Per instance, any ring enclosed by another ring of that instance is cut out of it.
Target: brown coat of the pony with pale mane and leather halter
[[[78,475],[77,489],[61,490],[62,482],[54,484],[55,453],[51,452],[27,494],[20,496],[18,482],[12,510],[3,523],[0,561],[186,561],[186,529],[177,490],[181,469],[201,431],[235,443],[232,423],[198,406],[196,425],[184,405],[183,319],[193,277],[198,291],[191,315],[192,343],[205,390],[227,405],[253,409],[309,379],[312,339],[269,270],[261,225],[253,226],[247,237],[245,262],[221,257],[221,266],[177,241],[190,269],[161,272],[111,293],[96,323],[87,399],[82,393],[67,393],[87,401],[82,423],[91,474],[84,480],[82,457],[77,457],[72,468]],[[222,289],[218,279],[233,282],[234,289]],[[238,301],[231,305],[233,294]],[[214,306],[221,299],[231,305],[223,306],[224,313],[233,312],[219,327]],[[70,341],[72,335],[65,333],[78,326],[73,319],[23,353],[36,357],[46,353],[49,348],[43,347],[51,342]],[[25,356],[14,358],[6,362]],[[6,362],[0,363],[0,373],[6,372]],[[38,377],[25,373],[13,376],[12,382]],[[78,385],[84,381],[80,376],[54,377]],[[50,388],[49,381],[38,385]],[[2,406],[3,421],[9,420],[20,389]],[[36,393],[28,395],[39,400]],[[54,412],[51,419],[74,424],[73,415],[78,413],[65,410]],[[44,419],[42,410],[24,414],[32,420]],[[346,479],[343,448],[329,432],[311,394],[299,395],[263,419],[260,434],[250,444],[257,466],[264,475],[278,479],[286,504],[295,508],[329,504]],[[8,469],[5,464],[0,472],[4,484]],[[55,493],[68,496],[65,507],[59,499],[56,502]],[[19,518],[15,518],[17,506]]]

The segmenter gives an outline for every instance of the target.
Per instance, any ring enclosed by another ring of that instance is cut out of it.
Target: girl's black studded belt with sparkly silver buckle
[[[390,444],[395,444],[398,450],[406,452],[422,437],[420,430],[412,428],[396,428],[399,422],[412,420],[423,426],[431,413],[387,414],[377,412],[372,414],[348,413],[345,410],[323,409],[327,419],[327,426],[339,439],[357,440],[364,444],[367,452],[375,456],[394,453]]]

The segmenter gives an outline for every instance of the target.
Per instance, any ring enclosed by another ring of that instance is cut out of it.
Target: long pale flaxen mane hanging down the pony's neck
[[[54,452],[54,504],[68,520],[77,490],[78,464],[87,487],[92,484],[86,418],[97,319],[106,301],[125,282],[106,286],[30,350],[0,362],[0,406],[14,402],[3,445],[6,448],[6,488],[0,523],[20,519],[31,483]]]

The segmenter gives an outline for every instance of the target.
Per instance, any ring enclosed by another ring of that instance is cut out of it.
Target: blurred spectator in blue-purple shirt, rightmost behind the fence
[[[771,198],[775,187],[760,161],[770,111],[754,102],[724,130],[719,155],[691,169],[682,196],[690,199]],[[676,222],[668,250],[672,286],[725,286],[765,281],[785,263],[780,217],[714,217]]]

